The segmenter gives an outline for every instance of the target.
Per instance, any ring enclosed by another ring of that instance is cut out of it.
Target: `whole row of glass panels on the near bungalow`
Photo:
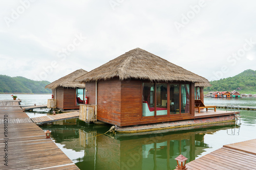
[[[190,113],[190,85],[142,83],[142,116]]]

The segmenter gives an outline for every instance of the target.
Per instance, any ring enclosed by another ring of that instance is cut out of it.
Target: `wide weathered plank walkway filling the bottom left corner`
[[[0,108],[0,169],[79,169],[51,139],[45,138],[42,129],[31,120],[26,122],[28,115],[18,108]],[[5,117],[8,124],[2,121]],[[4,134],[6,125],[8,133]],[[6,153],[8,166],[4,164]]]

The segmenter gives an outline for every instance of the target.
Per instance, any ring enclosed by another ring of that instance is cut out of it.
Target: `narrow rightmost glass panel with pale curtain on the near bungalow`
[[[181,85],[181,113],[190,113],[189,84]]]

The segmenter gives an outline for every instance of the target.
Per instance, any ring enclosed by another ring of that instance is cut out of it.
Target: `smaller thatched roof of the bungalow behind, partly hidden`
[[[88,71],[83,69],[78,69],[71,74],[62,77],[51,84],[48,84],[45,88],[55,89],[57,87],[71,87],[71,88],[85,88],[85,84],[81,84],[79,82],[74,82],[74,80],[84,74],[86,74]]]

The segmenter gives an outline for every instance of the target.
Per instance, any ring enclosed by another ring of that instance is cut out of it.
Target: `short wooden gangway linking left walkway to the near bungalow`
[[[79,117],[79,112],[69,112],[69,113],[61,113],[56,115],[33,117],[31,118],[31,120],[32,122],[36,123],[36,125],[41,125],[41,124],[46,124],[50,122],[56,122],[59,120],[78,118],[78,117]]]

